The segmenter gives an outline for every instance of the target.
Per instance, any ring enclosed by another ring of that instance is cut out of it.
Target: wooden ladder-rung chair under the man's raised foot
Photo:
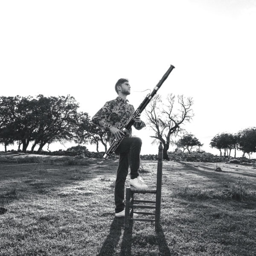
[[[154,221],[155,230],[160,229],[162,170],[163,170],[163,143],[162,142],[160,142],[158,150],[159,151],[158,151],[158,163],[157,163],[157,188],[156,189],[136,189],[134,186],[130,186],[126,188],[125,228],[128,228],[130,220],[133,220],[133,221]],[[139,193],[156,194],[156,201],[134,199],[134,194],[139,194]],[[151,205],[143,205],[143,204],[136,204],[136,203],[147,203]],[[134,208],[155,209],[155,212],[134,211]],[[133,218],[132,217],[133,213],[151,215],[154,218]]]

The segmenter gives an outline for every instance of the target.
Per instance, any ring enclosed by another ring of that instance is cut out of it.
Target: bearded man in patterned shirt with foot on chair
[[[111,144],[113,140],[121,140],[124,133],[121,131],[127,120],[134,113],[134,107],[128,102],[126,96],[131,92],[131,86],[128,79],[119,79],[115,85],[118,97],[114,100],[106,102],[105,105],[92,118],[92,122],[100,128],[107,131],[108,142]],[[145,127],[145,123],[140,120],[140,115],[135,119],[134,127],[137,130]],[[115,154],[119,154],[119,165],[116,173],[115,183],[115,204],[116,217],[125,216],[125,180],[128,175],[130,166],[131,180],[130,184],[136,188],[145,189],[148,186],[139,176],[140,168],[140,148],[142,141],[138,137],[131,137],[131,128],[128,131],[128,137],[125,137]],[[138,215],[134,213],[134,217]]]

